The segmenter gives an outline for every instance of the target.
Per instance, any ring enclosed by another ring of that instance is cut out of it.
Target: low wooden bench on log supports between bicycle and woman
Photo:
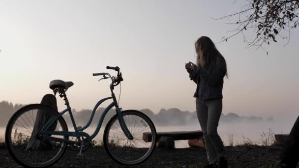
[[[157,148],[173,149],[175,140],[188,140],[190,147],[204,147],[202,131],[178,131],[178,132],[158,132],[157,133]],[[151,141],[151,133],[143,133],[142,139],[145,142]]]

